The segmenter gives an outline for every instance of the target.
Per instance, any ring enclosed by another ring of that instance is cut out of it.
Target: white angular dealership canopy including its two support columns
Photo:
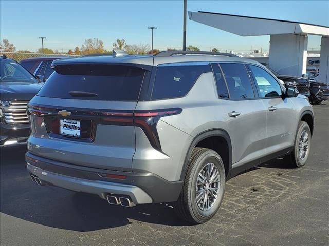
[[[288,20],[211,12],[191,12],[189,18],[240,36],[270,35],[269,67],[285,75],[306,72],[307,34],[320,35],[319,81],[329,84],[329,27]]]

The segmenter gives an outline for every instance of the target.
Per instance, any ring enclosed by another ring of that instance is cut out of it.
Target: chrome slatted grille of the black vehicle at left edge
[[[4,112],[4,121],[8,124],[28,123],[27,103],[28,101],[9,101],[9,107]]]

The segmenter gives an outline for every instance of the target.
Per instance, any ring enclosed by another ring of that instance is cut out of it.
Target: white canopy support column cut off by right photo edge
[[[329,85],[329,36],[321,38],[320,71],[316,80]]]

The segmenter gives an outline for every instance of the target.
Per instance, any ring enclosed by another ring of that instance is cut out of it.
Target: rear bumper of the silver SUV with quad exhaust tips
[[[110,204],[133,207],[137,204],[176,201],[182,181],[169,182],[152,173],[116,172],[58,162],[26,153],[27,171],[38,185],[99,195]]]

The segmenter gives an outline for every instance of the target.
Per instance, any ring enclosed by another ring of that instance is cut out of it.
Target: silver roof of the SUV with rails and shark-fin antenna
[[[210,53],[210,52],[208,52]],[[158,53],[159,54],[159,53]],[[230,55],[230,54],[227,54]],[[254,61],[247,58],[240,58],[237,56],[226,56],[226,55],[204,55],[204,54],[174,54],[174,55],[123,55],[113,57],[111,54],[102,56],[85,56],[69,59],[61,59],[53,61],[52,65],[64,65],[64,64],[107,64],[107,63],[128,63],[138,64],[147,66],[157,66],[160,64],[167,63],[184,63],[192,61],[208,61],[208,62],[219,62],[219,61],[231,61],[231,62],[243,62],[249,64],[259,64],[258,61]]]

